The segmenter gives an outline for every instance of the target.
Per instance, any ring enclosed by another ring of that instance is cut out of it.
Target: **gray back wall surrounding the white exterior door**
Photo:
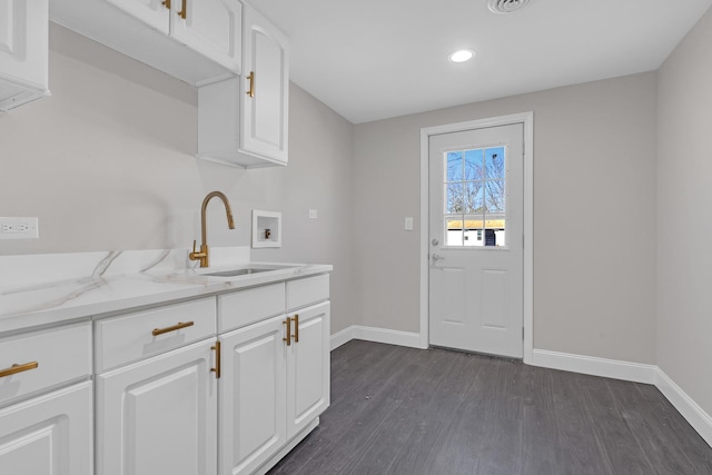
[[[534,347],[655,362],[655,73],[358,125],[360,325],[419,330],[422,127],[534,111]],[[417,222],[416,222],[417,228]]]

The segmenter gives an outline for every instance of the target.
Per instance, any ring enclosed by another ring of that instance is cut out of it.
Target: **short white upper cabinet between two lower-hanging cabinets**
[[[238,0],[52,0],[50,19],[198,86],[240,73],[241,8]]]

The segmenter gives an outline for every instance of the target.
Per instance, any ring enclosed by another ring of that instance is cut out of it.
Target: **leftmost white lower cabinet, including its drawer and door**
[[[0,336],[0,474],[93,471],[91,323]]]

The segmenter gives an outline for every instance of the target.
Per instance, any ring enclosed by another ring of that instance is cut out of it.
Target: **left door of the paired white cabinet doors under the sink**
[[[220,474],[249,474],[286,442],[285,316],[220,337]]]

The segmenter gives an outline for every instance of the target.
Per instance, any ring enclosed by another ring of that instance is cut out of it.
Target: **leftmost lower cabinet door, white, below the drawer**
[[[0,472],[12,475],[90,475],[91,383],[0,409]]]

